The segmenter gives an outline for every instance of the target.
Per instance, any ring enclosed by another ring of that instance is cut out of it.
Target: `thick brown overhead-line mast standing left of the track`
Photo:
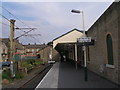
[[[14,44],[14,23],[15,20],[10,20],[10,61],[11,61],[11,77],[15,77],[14,70],[14,53],[15,53],[15,44]]]

